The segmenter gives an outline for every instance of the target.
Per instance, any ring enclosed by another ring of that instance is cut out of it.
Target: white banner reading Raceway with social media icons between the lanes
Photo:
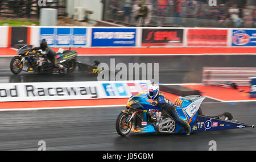
[[[0,84],[0,102],[129,98],[149,86],[150,81],[8,83]]]

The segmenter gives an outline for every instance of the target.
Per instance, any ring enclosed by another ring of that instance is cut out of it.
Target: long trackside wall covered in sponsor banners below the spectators
[[[254,47],[255,28],[0,27],[0,47]]]

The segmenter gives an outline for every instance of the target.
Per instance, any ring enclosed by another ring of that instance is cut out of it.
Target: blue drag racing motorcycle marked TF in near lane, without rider
[[[176,106],[177,113],[181,119],[189,123],[191,133],[233,128],[254,128],[254,125],[250,126],[233,121],[230,113],[214,117],[203,115],[200,105],[205,97],[200,95],[189,95],[180,99],[181,103],[178,104],[180,106]],[[177,124],[166,111],[152,105],[146,94],[131,96],[126,109],[118,115],[115,122],[115,128],[121,136],[126,136],[129,132],[185,133],[184,127]]]

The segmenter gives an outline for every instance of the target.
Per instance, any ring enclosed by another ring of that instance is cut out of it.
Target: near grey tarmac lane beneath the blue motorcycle
[[[207,103],[210,102],[210,103]],[[229,111],[243,123],[256,123],[255,102],[202,105],[204,114]],[[255,150],[256,130],[244,128],[183,134],[135,134],[121,137],[115,119],[122,107],[0,112],[0,149],[37,150],[44,140],[47,150],[208,150],[215,140],[217,150]]]

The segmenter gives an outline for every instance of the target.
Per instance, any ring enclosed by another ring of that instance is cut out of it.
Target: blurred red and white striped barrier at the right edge
[[[204,67],[202,82],[205,85],[235,83],[250,86],[250,77],[256,76],[256,68],[246,67]]]

